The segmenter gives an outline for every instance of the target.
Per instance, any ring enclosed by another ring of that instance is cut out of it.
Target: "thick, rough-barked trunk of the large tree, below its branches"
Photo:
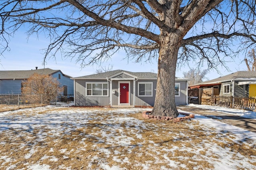
[[[175,105],[175,72],[178,57],[178,43],[161,45],[158,59],[156,98],[152,115],[178,117]]]

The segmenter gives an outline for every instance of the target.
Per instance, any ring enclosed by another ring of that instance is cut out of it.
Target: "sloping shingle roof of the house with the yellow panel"
[[[256,79],[256,71],[237,71],[235,73],[231,73],[209,81],[204,81],[199,84],[221,83],[225,81],[231,81],[233,79]]]

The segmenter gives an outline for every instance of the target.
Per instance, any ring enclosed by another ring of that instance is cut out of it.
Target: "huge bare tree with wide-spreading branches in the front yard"
[[[177,117],[176,65],[195,60],[225,66],[256,43],[255,0],[1,0],[3,49],[8,35],[48,35],[46,57],[57,52],[81,65],[126,50],[135,61],[158,57],[153,115]],[[24,26],[22,26],[24,25]],[[232,44],[240,43],[233,50]],[[7,47],[7,48],[6,48]]]

